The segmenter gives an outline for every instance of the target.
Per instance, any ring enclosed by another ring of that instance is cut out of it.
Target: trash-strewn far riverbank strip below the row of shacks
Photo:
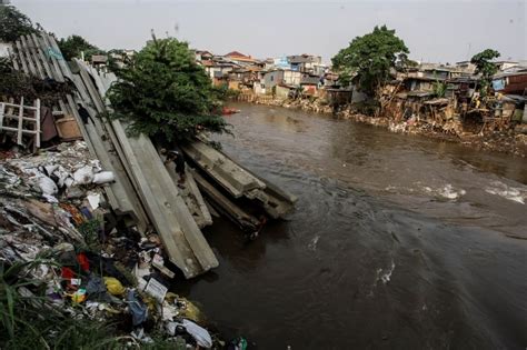
[[[464,126],[460,121],[454,119],[449,121],[435,120],[430,122],[419,118],[410,118],[408,120],[396,121],[388,117],[371,117],[360,113],[352,104],[335,110],[320,99],[284,100],[272,99],[268,96],[255,96],[248,102],[332,114],[336,118],[345,120],[382,127],[391,132],[420,134],[437,140],[458,142],[478,150],[497,151],[523,158],[527,157],[527,128],[525,128],[525,126],[521,132],[513,129],[504,131],[487,130],[481,132],[481,127],[476,128],[478,132],[475,132],[474,124]]]

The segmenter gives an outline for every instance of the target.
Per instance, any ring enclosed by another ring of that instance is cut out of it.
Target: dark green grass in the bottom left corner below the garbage
[[[111,324],[69,318],[43,297],[46,286],[28,271],[40,264],[38,259],[11,266],[0,262],[0,348],[1,349],[109,349],[118,338]],[[26,294],[21,290],[37,289]]]

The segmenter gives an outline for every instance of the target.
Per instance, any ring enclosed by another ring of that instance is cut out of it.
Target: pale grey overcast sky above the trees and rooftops
[[[192,48],[256,58],[314,53],[325,62],[357,36],[387,24],[415,60],[456,62],[486,48],[527,59],[526,0],[178,1],[11,0],[59,37],[102,49],[140,49],[155,29]]]

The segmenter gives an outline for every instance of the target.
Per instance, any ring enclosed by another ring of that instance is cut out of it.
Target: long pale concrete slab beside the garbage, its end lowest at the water
[[[156,231],[167,254],[186,278],[192,278],[218,267],[218,260],[199,230],[177,186],[163,167],[150,139],[129,138],[120,121],[112,121],[121,148],[138,184]]]

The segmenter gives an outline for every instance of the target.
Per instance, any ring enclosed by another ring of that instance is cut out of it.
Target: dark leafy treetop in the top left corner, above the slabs
[[[31,20],[12,6],[0,4],[0,40],[16,41],[20,36],[36,32]]]

